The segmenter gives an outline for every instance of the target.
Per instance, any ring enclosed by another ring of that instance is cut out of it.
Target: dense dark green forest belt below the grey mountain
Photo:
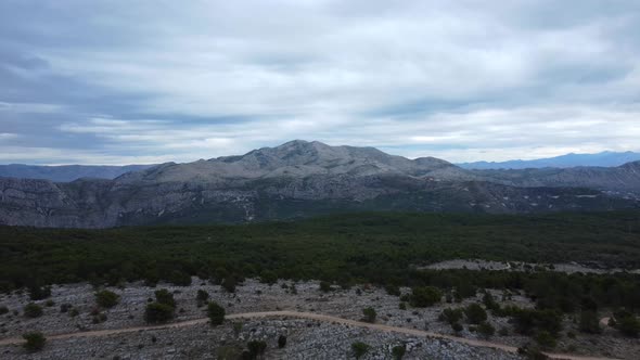
[[[535,216],[394,213],[243,226],[107,230],[1,227],[0,288],[78,281],[116,284],[166,280],[180,284],[190,282],[189,275],[215,281],[278,277],[343,285],[470,285],[532,292],[536,286],[553,284],[564,294],[560,297],[576,292],[576,296],[587,294],[604,305],[629,307],[640,304],[638,275],[415,268],[446,259],[484,258],[598,261],[637,269],[639,219],[638,211]],[[553,306],[561,306],[560,300],[553,301]]]

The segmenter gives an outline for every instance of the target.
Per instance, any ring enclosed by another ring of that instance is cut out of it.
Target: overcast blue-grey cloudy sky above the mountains
[[[0,163],[640,151],[640,1],[0,1]]]

